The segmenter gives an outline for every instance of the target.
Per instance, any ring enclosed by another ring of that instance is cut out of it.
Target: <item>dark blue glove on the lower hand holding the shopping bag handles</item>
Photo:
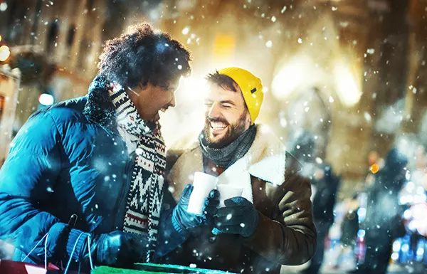
[[[81,253],[85,263],[90,263],[89,252],[94,265],[109,265],[117,268],[132,268],[134,263],[145,260],[147,237],[122,231],[90,235],[90,251],[85,245]]]

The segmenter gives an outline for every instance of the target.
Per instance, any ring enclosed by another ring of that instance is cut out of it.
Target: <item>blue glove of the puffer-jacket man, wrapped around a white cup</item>
[[[204,214],[197,215],[187,212],[189,207],[189,201],[193,186],[187,184],[182,191],[181,199],[176,204],[172,213],[172,224],[176,231],[184,233],[189,231],[191,228],[201,226],[207,222],[207,218],[212,218],[215,213],[215,209],[219,204],[219,194],[217,190],[211,191],[209,197],[205,200]]]

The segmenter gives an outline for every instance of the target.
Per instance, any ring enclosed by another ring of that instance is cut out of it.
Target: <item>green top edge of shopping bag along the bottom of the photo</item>
[[[138,263],[133,269],[110,268],[100,266],[92,270],[92,274],[233,274],[220,270],[189,268],[182,265],[158,265],[155,263]]]

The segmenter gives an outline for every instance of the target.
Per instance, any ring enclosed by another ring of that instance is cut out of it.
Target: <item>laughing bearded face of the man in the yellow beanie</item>
[[[251,116],[241,90],[237,85],[235,88],[237,91],[226,90],[215,83],[209,84],[204,134],[210,147],[225,147],[251,125]]]

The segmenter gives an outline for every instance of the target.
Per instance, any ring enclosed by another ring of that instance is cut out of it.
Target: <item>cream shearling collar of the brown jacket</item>
[[[178,151],[178,149],[177,149]],[[266,126],[258,125],[257,134],[251,148],[237,162],[228,167],[218,176],[218,184],[230,184],[243,188],[242,196],[253,201],[251,176],[267,181],[275,186],[285,182],[286,166],[294,169],[287,161],[285,146],[278,137]],[[174,199],[179,200],[181,189],[188,181],[193,180],[194,172],[204,172],[203,156],[198,142],[185,148],[185,152],[176,160],[169,172],[168,181],[171,186],[180,185],[173,192]]]

